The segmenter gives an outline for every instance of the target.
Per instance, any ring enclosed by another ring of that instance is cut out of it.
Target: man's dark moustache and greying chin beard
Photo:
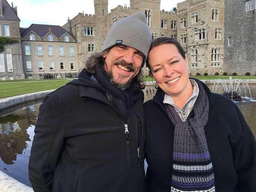
[[[122,65],[122,66],[124,66],[125,68],[128,68],[131,72],[134,72],[134,70],[135,70],[134,67],[132,66],[132,64],[126,63],[126,61],[124,61],[124,60],[122,60],[122,61],[117,61],[117,62],[113,63],[113,65]],[[112,85],[114,85],[116,88],[121,89],[121,90],[125,90],[125,89],[127,89],[128,87],[130,87],[130,83],[131,83],[131,81],[132,81],[132,78],[130,78],[130,79],[128,79],[128,81],[126,81],[125,83],[116,82],[116,81],[114,80],[114,76],[113,76],[112,70],[109,71],[109,72],[107,72],[107,78],[109,79],[109,81],[110,81],[110,83],[111,83]],[[122,80],[122,79],[124,79],[124,78],[126,78],[126,76],[119,74],[119,76],[118,76],[117,79]]]

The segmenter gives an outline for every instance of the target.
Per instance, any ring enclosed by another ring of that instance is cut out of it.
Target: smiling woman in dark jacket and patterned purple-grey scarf
[[[145,103],[149,192],[256,192],[256,142],[236,104],[189,79],[179,42],[152,42],[158,85]]]

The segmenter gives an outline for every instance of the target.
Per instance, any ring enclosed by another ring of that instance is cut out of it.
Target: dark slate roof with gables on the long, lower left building
[[[64,33],[68,33],[74,40],[76,40],[72,34],[64,30],[61,26],[43,24],[32,24],[21,34],[21,38],[26,37],[26,35],[28,35],[31,31],[43,38],[47,33],[49,33],[49,29],[58,39],[63,36]]]

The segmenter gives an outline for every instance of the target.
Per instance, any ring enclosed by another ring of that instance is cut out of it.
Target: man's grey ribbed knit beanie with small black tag
[[[104,41],[102,51],[105,51],[115,45],[130,46],[144,54],[143,66],[147,60],[151,42],[151,32],[148,28],[145,14],[137,12],[118,20],[112,26]]]

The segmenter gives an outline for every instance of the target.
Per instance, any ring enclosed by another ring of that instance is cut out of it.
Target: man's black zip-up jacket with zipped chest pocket
[[[35,192],[143,192],[143,93],[128,121],[83,70],[47,95],[29,162]]]

